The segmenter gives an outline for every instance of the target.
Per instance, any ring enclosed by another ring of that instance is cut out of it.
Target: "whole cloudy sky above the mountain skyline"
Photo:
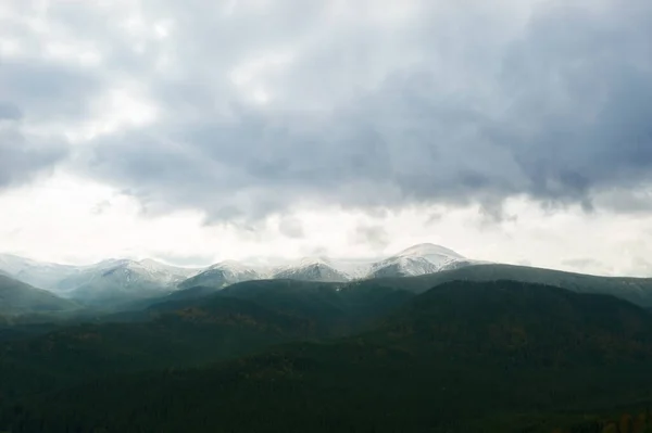
[[[652,276],[649,0],[2,0],[0,251]]]

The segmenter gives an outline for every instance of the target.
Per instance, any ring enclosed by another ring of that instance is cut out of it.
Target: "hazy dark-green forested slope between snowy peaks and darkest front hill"
[[[383,289],[346,294],[329,284],[292,280],[231,288],[200,300],[178,300],[174,295],[180,292],[175,292],[142,311],[0,345],[0,370],[12,371],[11,380],[0,383],[0,395],[51,391],[108,372],[187,367],[275,343],[342,335],[412,297]]]

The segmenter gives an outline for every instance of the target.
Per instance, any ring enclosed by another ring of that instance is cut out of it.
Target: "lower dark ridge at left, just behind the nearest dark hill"
[[[0,395],[38,394],[111,373],[234,358],[317,336],[314,329],[310,318],[227,297],[152,310],[130,322],[70,326],[0,344]]]

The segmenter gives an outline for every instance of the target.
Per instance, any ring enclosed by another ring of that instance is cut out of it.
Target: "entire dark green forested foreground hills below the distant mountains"
[[[0,431],[652,431],[645,309],[506,280],[414,292],[256,281],[14,330]]]

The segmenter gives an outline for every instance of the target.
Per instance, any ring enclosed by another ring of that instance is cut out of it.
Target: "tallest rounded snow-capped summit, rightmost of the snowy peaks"
[[[366,278],[410,277],[473,265],[464,256],[431,243],[411,246],[371,266]]]

